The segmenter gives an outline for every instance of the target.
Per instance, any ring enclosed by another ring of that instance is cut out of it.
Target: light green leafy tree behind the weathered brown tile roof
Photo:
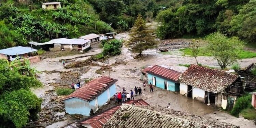
[[[228,38],[224,34],[216,32],[208,35],[206,39],[209,41],[208,50],[217,60],[221,69],[240,59],[239,52],[243,49],[244,43],[238,37]]]

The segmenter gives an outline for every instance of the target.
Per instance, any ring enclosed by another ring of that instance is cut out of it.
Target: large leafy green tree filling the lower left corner
[[[0,59],[0,127],[22,128],[30,119],[37,118],[42,101],[30,88],[42,86],[42,83],[28,66],[28,62],[9,63]]]

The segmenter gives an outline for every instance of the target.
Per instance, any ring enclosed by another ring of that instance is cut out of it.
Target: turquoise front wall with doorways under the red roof
[[[172,82],[170,80],[165,80],[161,77],[155,76],[150,73],[148,73],[148,84],[150,84],[150,83],[153,84],[153,79],[152,79],[153,76],[156,77],[156,87],[165,89],[165,81],[167,81],[170,91],[179,91],[180,90],[179,84],[175,84],[174,82]]]

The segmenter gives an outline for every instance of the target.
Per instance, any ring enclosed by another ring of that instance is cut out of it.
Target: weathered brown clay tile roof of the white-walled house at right
[[[191,65],[181,76],[180,83],[191,85],[208,92],[219,93],[238,78],[237,75]]]

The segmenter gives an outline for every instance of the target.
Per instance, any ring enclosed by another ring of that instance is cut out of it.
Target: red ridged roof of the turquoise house
[[[164,77],[172,81],[178,81],[181,72],[177,72],[168,68],[164,68],[158,65],[154,65],[147,73]]]

